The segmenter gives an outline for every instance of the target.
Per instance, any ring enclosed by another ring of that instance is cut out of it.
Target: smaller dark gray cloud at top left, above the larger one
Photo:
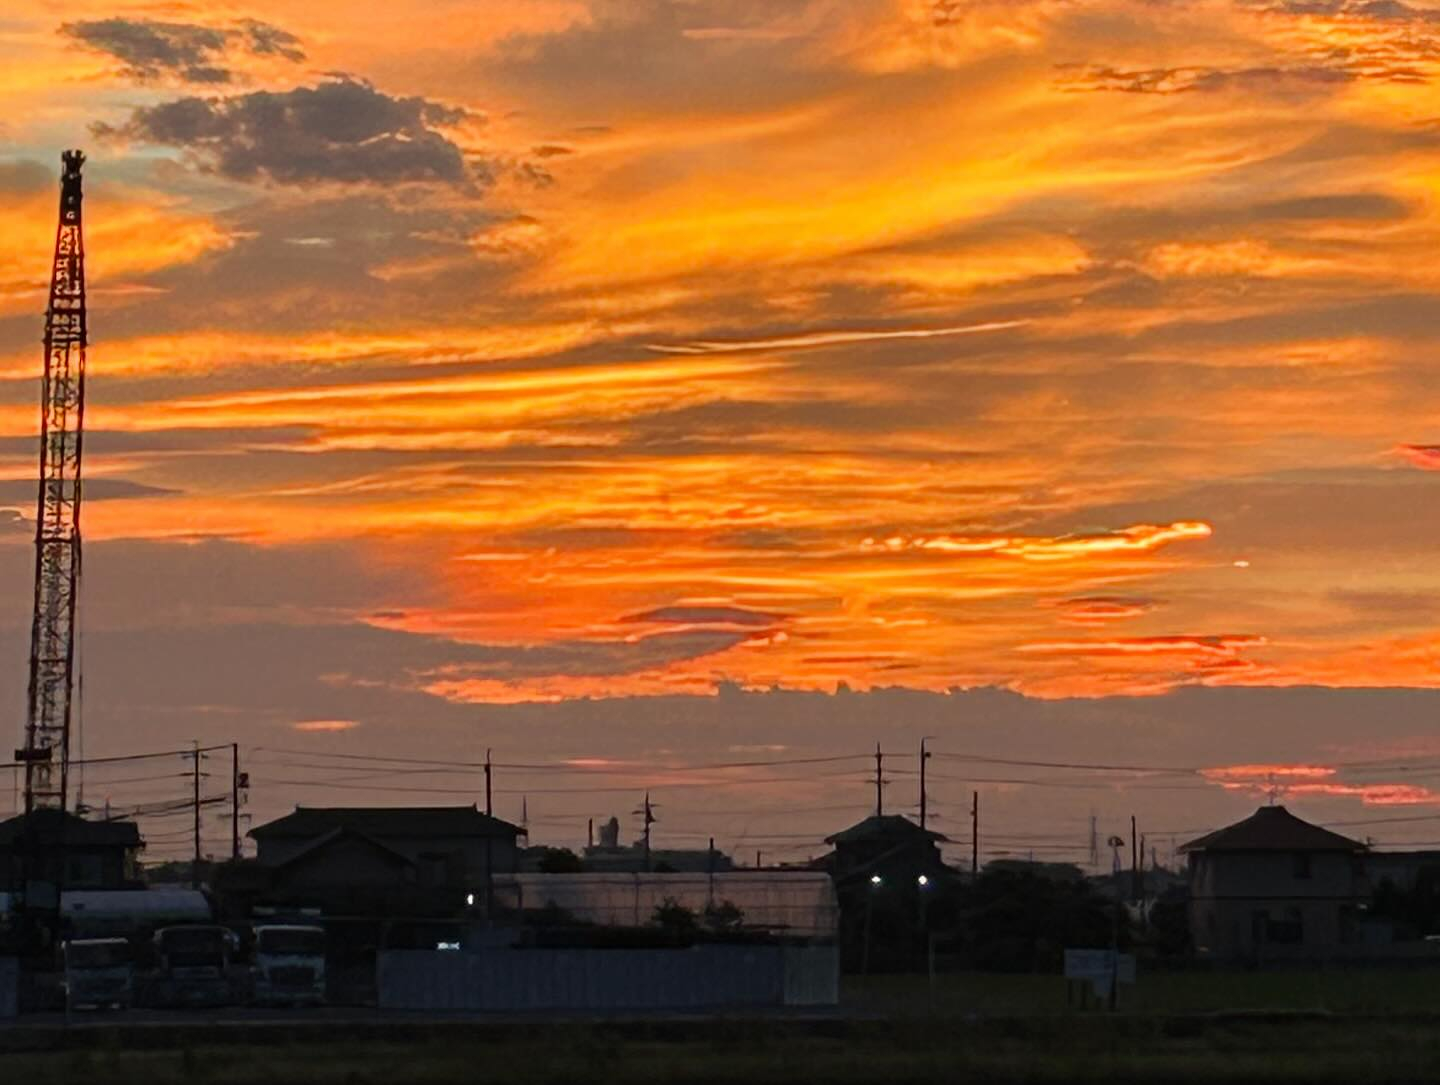
[[[131,79],[176,78],[193,84],[230,82],[225,65],[235,55],[304,61],[300,39],[271,23],[242,19],[230,27],[164,23],[154,19],[86,19],[62,23],[62,35],[121,62]]]

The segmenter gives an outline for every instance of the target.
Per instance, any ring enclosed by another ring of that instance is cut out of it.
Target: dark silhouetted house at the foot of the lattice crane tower
[[[20,892],[24,879],[48,892],[138,889],[143,846],[134,821],[86,821],[63,810],[20,814],[0,821],[0,890]]]

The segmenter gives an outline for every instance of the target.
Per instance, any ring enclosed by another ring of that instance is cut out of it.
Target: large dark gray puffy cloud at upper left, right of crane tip
[[[108,140],[179,147],[206,171],[240,182],[397,183],[487,182],[484,164],[441,127],[474,120],[428,98],[397,98],[348,75],[292,91],[189,97],[140,107],[118,127],[98,124]]]

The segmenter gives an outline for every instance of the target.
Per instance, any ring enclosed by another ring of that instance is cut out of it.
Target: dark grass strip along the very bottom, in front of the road
[[[353,1039],[180,1050],[9,1055],[26,1085],[400,1085],[422,1082],[1428,1082],[1431,1024],[1253,1022],[1162,1027],[1162,1019],[844,1022],[829,1029],[710,1026],[648,1035],[593,1024],[485,1029],[406,1043]]]

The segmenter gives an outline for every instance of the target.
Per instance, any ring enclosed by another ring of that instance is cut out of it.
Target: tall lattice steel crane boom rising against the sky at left
[[[60,156],[60,223],[45,313],[35,621],[24,725],[24,808],[63,810],[69,782],[75,601],[81,576],[81,438],[85,418],[85,239],[81,151]]]

